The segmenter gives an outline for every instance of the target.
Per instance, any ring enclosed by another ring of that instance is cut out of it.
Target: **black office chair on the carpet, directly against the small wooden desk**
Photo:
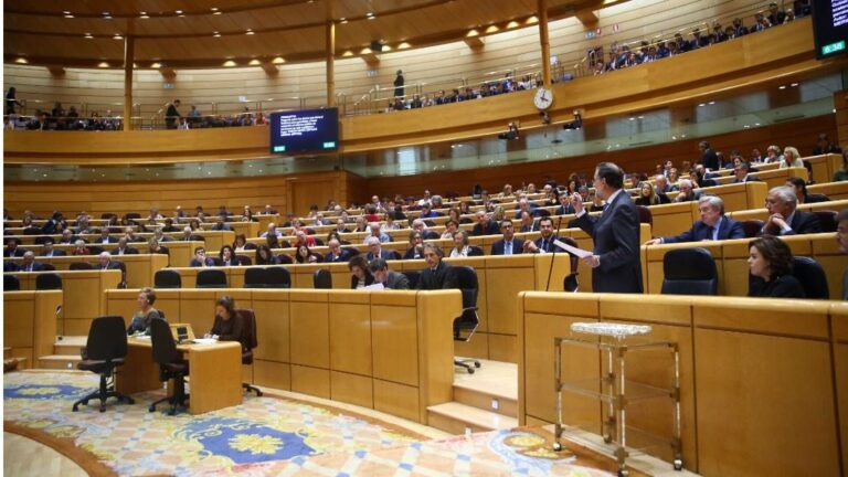
[[[126,333],[125,333],[126,339]],[[153,361],[159,364],[159,380],[173,380],[173,394],[166,396],[150,404],[149,412],[156,411],[156,406],[167,402],[171,404],[168,414],[177,414],[178,406],[186,406],[186,377],[189,375],[189,362],[183,361],[182,353],[177,350],[177,342],[173,341],[171,327],[168,321],[161,318],[150,320],[150,343],[153,347]]]

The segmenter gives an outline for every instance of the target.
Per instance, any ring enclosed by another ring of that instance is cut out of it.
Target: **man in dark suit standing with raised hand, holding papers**
[[[624,186],[624,172],[612,162],[595,168],[595,194],[606,201],[600,218],[590,216],[580,194],[571,197],[576,219],[572,222],[592,236],[593,255],[583,258],[592,267],[592,290],[642,293],[639,213]]]

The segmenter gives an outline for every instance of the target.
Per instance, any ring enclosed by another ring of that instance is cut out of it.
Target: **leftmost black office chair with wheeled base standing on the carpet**
[[[73,411],[80,410],[80,404],[88,405],[91,400],[100,401],[100,412],[106,411],[106,400],[117,398],[118,402],[135,404],[132,398],[115,391],[115,369],[124,364],[127,356],[127,331],[124,318],[105,316],[95,318],[88,329],[88,340],[85,343],[83,360],[76,368],[100,375],[100,386],[97,391],[74,403]]]

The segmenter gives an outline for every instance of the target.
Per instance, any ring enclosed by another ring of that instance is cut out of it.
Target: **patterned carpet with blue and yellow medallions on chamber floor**
[[[105,413],[97,405],[73,413],[71,404],[97,386],[94,374],[3,378],[7,422],[73,439],[119,475],[610,475],[560,459],[524,431],[420,442],[373,420],[255,396],[199,416],[147,412],[161,393],[137,394],[135,405],[109,405]]]

